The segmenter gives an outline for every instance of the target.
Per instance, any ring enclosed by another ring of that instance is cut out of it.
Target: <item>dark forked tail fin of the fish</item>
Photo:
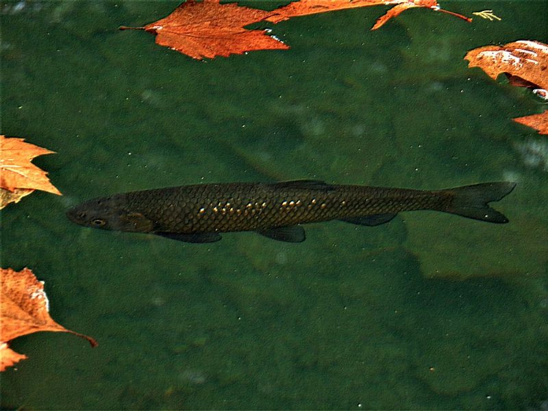
[[[444,191],[449,192],[453,196],[453,200],[443,211],[490,223],[508,223],[506,216],[490,208],[488,203],[499,201],[508,195],[515,186],[516,183],[512,182],[491,182],[449,188]]]

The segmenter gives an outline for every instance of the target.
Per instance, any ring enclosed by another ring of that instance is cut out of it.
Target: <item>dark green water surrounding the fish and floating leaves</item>
[[[545,110],[462,60],[548,42],[545,1],[450,2],[472,24],[383,6],[267,25],[292,47],[206,62],[119,32],[177,1],[1,2],[1,133],[63,197],[2,211],[1,265],[45,281],[51,315],[94,336],[10,343],[3,408],[548,408],[548,145],[510,119]],[[270,3],[257,7],[274,8]],[[73,225],[112,192],[325,179],[445,188],[513,180],[492,225],[409,212],[191,245]]]

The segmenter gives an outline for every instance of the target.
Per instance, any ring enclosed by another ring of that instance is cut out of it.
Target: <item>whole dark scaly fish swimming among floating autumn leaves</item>
[[[508,223],[488,203],[499,201],[514,186],[512,182],[488,182],[412,190],[319,180],[197,184],[91,199],[69,209],[66,216],[85,227],[156,234],[183,242],[214,242],[225,232],[258,232],[273,240],[302,242],[306,234],[301,224],[342,220],[375,226],[413,210]]]

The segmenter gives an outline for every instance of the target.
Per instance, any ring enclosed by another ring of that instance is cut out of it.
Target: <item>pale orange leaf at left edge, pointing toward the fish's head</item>
[[[61,195],[49,182],[47,173],[31,162],[38,155],[51,153],[55,151],[25,142],[24,138],[5,138],[0,135],[0,188],[12,192],[16,188],[30,188]]]

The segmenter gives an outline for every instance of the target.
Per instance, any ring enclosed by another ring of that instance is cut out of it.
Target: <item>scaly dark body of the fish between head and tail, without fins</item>
[[[153,215],[169,232],[253,231],[402,210],[447,206],[450,195],[418,190],[334,186],[282,190],[269,184],[215,184],[127,193],[130,210]]]

